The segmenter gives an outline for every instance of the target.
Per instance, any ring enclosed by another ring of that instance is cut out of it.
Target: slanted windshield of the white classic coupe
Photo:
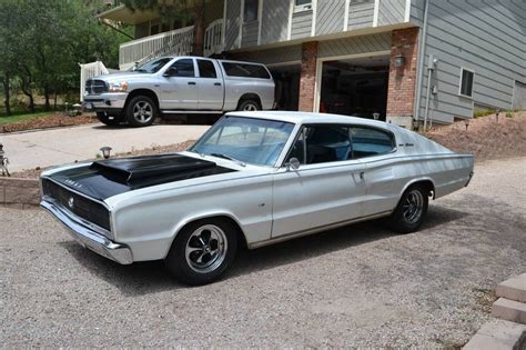
[[[294,124],[290,122],[226,116],[190,151],[273,167],[293,129]]]

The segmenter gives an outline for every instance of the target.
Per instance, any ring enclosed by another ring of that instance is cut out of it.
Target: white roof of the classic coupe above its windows
[[[254,111],[254,112],[229,112],[226,116],[243,117],[243,118],[259,118],[276,121],[286,121],[296,124],[315,124],[315,123],[352,123],[370,127],[388,128],[392,124],[383,121],[371,120],[360,117],[350,117],[330,113],[313,113],[313,112],[292,112],[292,111]]]

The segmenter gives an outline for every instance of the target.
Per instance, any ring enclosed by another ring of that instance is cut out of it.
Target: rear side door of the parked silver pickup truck
[[[223,109],[224,87],[216,64],[213,60],[198,59],[200,110],[220,111]]]

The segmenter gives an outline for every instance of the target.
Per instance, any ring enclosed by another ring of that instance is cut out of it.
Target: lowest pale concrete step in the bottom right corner
[[[492,320],[464,346],[465,350],[522,349],[526,326],[505,320]]]

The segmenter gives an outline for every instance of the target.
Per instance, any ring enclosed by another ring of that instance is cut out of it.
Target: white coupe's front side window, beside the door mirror
[[[303,164],[316,164],[351,159],[348,128],[344,126],[305,127],[289,158]]]

